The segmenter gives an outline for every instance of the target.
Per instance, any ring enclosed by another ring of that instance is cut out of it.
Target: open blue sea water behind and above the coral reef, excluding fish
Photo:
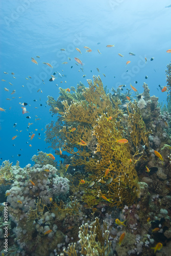
[[[123,83],[127,85],[126,88],[130,88],[132,83],[142,93],[142,84],[146,82],[151,96],[156,95],[160,102],[166,103],[167,93],[162,94],[157,89],[159,84],[162,87],[166,85],[165,69],[171,57],[171,54],[166,53],[171,48],[171,8],[165,8],[170,4],[170,0],[1,0],[0,107],[6,110],[0,113],[2,161],[9,159],[15,164],[19,160],[20,166],[24,167],[32,163],[31,158],[38,149],[54,154],[44,141],[45,125],[55,120],[49,113],[49,107],[45,107],[47,95],[57,99],[59,87],[76,87],[79,81],[87,85],[86,79],[92,79],[92,75],[100,75],[109,92],[112,87],[116,89]],[[107,45],[115,47],[106,48]],[[92,52],[85,53],[84,46],[90,47]],[[65,51],[61,52],[61,48]],[[129,52],[135,56],[130,56]],[[118,56],[118,53],[124,57]],[[36,58],[37,55],[40,59]],[[37,60],[38,66],[31,61],[31,57]],[[80,65],[75,65],[74,57],[80,58],[85,64],[84,73]],[[144,57],[148,59],[146,63]],[[153,61],[150,60],[152,57]],[[128,60],[131,63],[126,66]],[[68,64],[62,64],[64,61]],[[42,62],[51,63],[53,69]],[[96,68],[100,69],[100,73]],[[67,77],[48,81],[55,71]],[[4,88],[9,89],[9,92],[4,91]],[[39,88],[42,93],[37,93]],[[13,90],[16,93],[11,95]],[[37,101],[34,102],[34,99]],[[26,107],[29,113],[22,114],[19,102],[28,103]],[[31,116],[31,119],[26,116]],[[35,118],[41,120],[35,121]],[[29,122],[33,124],[27,129]],[[17,123],[16,127],[13,127],[14,123]],[[29,140],[31,132],[36,134],[32,141]],[[38,133],[41,139],[38,139]],[[12,140],[15,135],[18,137]],[[21,156],[18,157],[18,154]],[[59,160],[58,156],[56,160]]]

